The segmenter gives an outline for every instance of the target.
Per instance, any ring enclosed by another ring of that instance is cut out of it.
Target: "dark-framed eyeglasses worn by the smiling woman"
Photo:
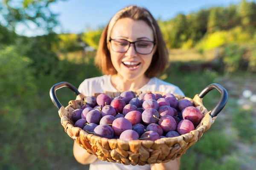
[[[112,50],[119,53],[125,53],[130,48],[130,45],[134,44],[135,51],[139,54],[150,54],[156,44],[155,41],[139,40],[130,42],[124,39],[109,39],[109,42]]]

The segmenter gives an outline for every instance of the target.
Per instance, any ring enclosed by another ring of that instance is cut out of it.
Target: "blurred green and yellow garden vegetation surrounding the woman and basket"
[[[52,85],[76,87],[102,75],[93,66],[102,28],[56,34],[55,0],[0,3],[0,170],[88,169],[73,158],[73,140],[64,132],[49,98]],[[33,22],[47,34],[17,35],[19,23]],[[193,98],[219,83],[229,101],[212,127],[181,159],[181,170],[253,170],[256,167],[256,3],[201,9],[171,20],[158,19],[172,64],[161,79]],[[94,51],[89,51],[95,49]],[[246,91],[245,91],[246,90]],[[76,96],[57,92],[66,106]],[[211,110],[220,94],[204,97]]]

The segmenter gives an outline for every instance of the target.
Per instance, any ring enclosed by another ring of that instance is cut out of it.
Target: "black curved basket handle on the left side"
[[[58,101],[57,96],[56,96],[56,90],[63,88],[63,87],[67,87],[70,88],[73,92],[76,93],[76,95],[79,95],[80,92],[75,88],[75,86],[71,85],[68,82],[60,82],[58,84],[55,84],[52,86],[52,88],[50,89],[50,97],[52,99],[53,104],[58,108],[58,110],[60,110],[61,108],[61,103]]]

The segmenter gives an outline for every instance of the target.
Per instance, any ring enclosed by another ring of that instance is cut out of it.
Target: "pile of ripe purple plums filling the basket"
[[[84,105],[72,113],[75,127],[108,139],[152,140],[180,136],[195,130],[203,115],[187,99],[173,94],[124,91],[84,98]]]

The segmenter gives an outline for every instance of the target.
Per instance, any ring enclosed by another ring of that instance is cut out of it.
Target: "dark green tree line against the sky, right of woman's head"
[[[177,14],[171,20],[157,21],[168,48],[194,46],[209,34],[238,26],[243,28],[244,38],[249,35],[248,41],[256,32],[256,3],[242,0],[237,5],[201,9],[187,15]]]

